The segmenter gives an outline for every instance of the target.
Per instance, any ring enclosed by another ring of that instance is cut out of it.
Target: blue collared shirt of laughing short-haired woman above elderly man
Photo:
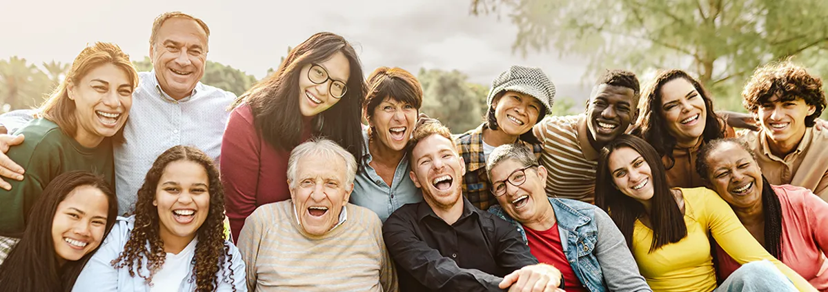
[[[363,171],[354,178],[354,192],[351,192],[350,202],[360,207],[366,207],[377,213],[383,222],[402,205],[422,202],[422,192],[414,185],[408,175],[411,168],[408,166],[407,156],[403,156],[391,187],[383,181],[371,165],[371,152],[368,151],[368,133],[363,131],[365,139],[365,156],[362,159]]]

